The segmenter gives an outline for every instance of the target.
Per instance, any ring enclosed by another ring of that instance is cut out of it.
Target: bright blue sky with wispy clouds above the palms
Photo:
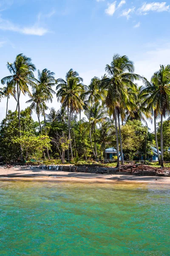
[[[89,84],[119,53],[150,79],[159,64],[170,63],[169,23],[170,1],[0,0],[0,76],[8,75],[7,61],[24,53],[37,69],[64,78],[72,67]],[[21,108],[27,99],[22,96]],[[3,99],[0,119],[5,104]],[[57,99],[51,106],[59,108]],[[14,99],[9,108],[16,108]]]

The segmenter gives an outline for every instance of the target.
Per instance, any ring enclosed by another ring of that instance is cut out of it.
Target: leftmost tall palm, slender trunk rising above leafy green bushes
[[[18,127],[21,136],[21,124],[20,124],[20,90],[25,95],[29,93],[28,85],[34,84],[33,71],[36,70],[34,64],[31,62],[31,58],[26,57],[22,53],[17,55],[14,63],[7,62],[7,68],[11,73],[11,76],[6,76],[1,79],[2,84],[6,84],[13,88],[17,88],[17,103],[18,103]],[[23,161],[23,149],[20,144],[20,157]]]

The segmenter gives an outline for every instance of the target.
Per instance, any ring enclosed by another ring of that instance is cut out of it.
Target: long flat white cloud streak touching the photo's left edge
[[[0,29],[1,30],[9,30],[9,31],[14,31],[14,32],[19,32],[21,34],[26,34],[26,35],[45,35],[48,30],[39,26],[38,24],[34,24],[33,26],[28,26],[28,27],[21,27],[14,25],[11,23],[9,20],[4,20],[0,17]]]

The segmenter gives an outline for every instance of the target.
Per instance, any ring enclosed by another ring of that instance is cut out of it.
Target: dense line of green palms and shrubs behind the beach
[[[47,157],[77,161],[79,158],[99,160],[105,157],[105,148],[117,150],[117,167],[124,158],[133,159],[137,152],[146,159],[155,145],[159,164],[169,157],[170,144],[165,139],[170,127],[170,65],[160,65],[148,81],[134,73],[133,61],[126,55],[113,55],[105,74],[83,84],[79,73],[70,69],[65,79],[56,79],[48,69],[38,70],[31,58],[17,55],[7,62],[9,76],[1,79],[4,86],[0,97],[6,97],[6,118],[0,127],[0,154],[5,160]],[[137,82],[142,81],[142,86]],[[20,95],[29,96],[28,108],[21,111]],[[8,100],[14,97],[16,111],[8,111]],[[48,102],[55,100],[61,108],[48,110]],[[31,118],[33,111],[38,122]],[[82,118],[82,112],[86,118]],[[43,116],[43,121],[40,121]],[[154,122],[154,135],[147,122]],[[157,122],[159,124],[157,124]],[[165,135],[166,134],[166,135]]]

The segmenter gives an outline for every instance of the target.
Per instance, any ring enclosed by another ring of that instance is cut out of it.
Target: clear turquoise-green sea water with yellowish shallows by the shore
[[[170,186],[0,181],[0,255],[170,255]]]

